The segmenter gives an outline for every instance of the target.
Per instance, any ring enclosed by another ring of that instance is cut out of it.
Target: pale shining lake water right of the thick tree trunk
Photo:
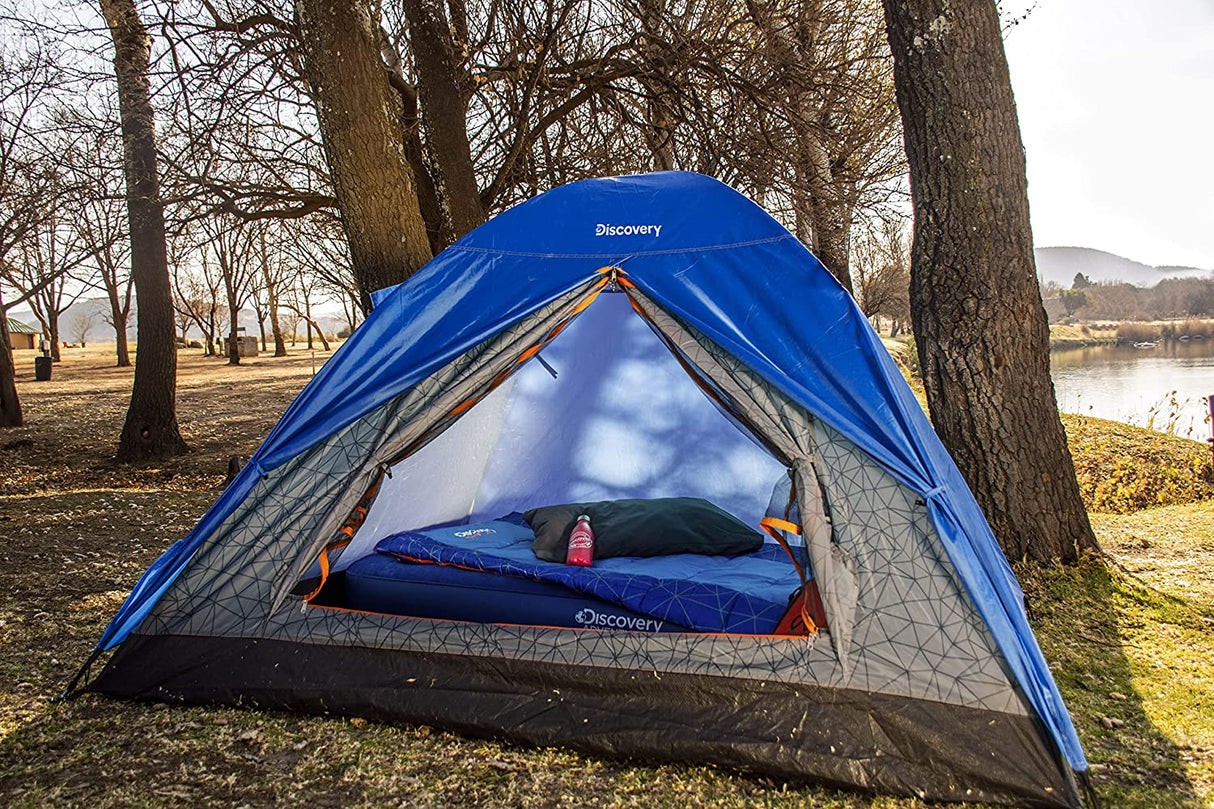
[[[1153,349],[1097,346],[1050,355],[1059,409],[1204,441],[1214,394],[1214,340]]]

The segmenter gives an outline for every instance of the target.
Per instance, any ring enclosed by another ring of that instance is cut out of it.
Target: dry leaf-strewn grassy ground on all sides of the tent
[[[33,362],[18,362],[29,424],[0,434],[0,804],[923,807],[426,726],[96,696],[51,703],[140,573],[217,496],[228,456],[248,456],[308,379],[312,360],[300,351],[228,368],[182,353],[180,418],[195,451],[141,468],[108,460],[129,369],[110,368],[101,351],[69,351],[53,381],[33,383]],[[1068,429],[1094,479],[1118,459],[1140,458],[1146,475],[1201,448],[1095,419]],[[1184,491],[1175,497],[1199,494]],[[1096,788],[1108,807],[1214,805],[1214,504],[1093,521],[1107,560],[1019,575]]]

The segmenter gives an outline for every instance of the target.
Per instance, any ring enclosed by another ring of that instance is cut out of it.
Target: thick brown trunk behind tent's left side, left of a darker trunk
[[[362,304],[432,256],[404,155],[399,102],[380,58],[379,24],[359,0],[296,0],[324,153]]]

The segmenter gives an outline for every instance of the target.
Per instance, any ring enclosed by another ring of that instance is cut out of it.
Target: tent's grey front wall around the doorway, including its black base
[[[924,505],[640,293],[651,323],[796,473],[821,638],[472,624],[304,605],[300,577],[386,465],[483,397],[595,281],[270,473],[92,689],[425,722],[940,799],[1077,805]],[[829,640],[828,640],[829,639]]]

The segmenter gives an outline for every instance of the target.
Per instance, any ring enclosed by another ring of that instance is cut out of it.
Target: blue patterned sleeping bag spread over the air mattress
[[[771,634],[800,585],[796,570],[775,544],[743,556],[617,556],[575,567],[537,559],[533,539],[531,527],[511,514],[492,522],[404,531],[380,539],[375,550],[405,561],[561,584],[696,632]]]

